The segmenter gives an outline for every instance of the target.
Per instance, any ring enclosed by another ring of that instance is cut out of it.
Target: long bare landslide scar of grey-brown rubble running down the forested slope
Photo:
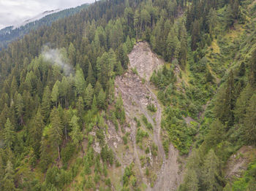
[[[139,42],[135,45],[132,52],[129,53],[129,69],[121,77],[116,77],[116,93],[121,93],[124,101],[124,109],[126,112],[127,122],[130,124],[130,133],[133,147],[133,161],[139,169],[140,181],[147,185],[146,190],[176,190],[181,182],[181,174],[179,173],[178,151],[170,145],[169,155],[165,156],[161,139],[161,117],[162,109],[154,94],[153,87],[148,80],[156,69],[163,65],[163,61],[151,52],[146,42]],[[132,69],[138,71],[138,74],[132,72]],[[157,112],[152,114],[146,106],[154,104]],[[140,119],[145,115],[148,122],[154,127],[149,132],[149,141],[154,141],[158,147],[157,157],[151,158],[151,171],[157,175],[154,186],[150,186],[150,182],[146,178],[145,168],[140,165],[140,156],[144,155],[142,149],[136,144],[137,126],[134,117]]]

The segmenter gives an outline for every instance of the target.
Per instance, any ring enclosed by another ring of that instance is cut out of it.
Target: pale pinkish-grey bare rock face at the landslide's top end
[[[154,54],[147,42],[138,42],[129,53],[129,69],[137,69],[141,78],[149,81],[154,70],[159,69],[164,61]]]

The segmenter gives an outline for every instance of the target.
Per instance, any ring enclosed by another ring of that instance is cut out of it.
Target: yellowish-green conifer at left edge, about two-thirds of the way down
[[[7,148],[12,148],[15,142],[15,131],[10,119],[7,118],[7,122],[4,125],[4,144]]]

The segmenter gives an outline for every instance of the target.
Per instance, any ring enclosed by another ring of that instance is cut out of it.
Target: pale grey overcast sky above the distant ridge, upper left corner
[[[0,29],[15,26],[42,12],[76,7],[94,0],[0,0]]]

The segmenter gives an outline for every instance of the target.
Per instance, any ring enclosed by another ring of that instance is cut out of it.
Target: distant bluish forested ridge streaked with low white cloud
[[[41,26],[50,26],[51,23],[62,17],[68,17],[80,12],[82,9],[86,9],[89,4],[82,4],[75,8],[69,9],[55,9],[42,12],[41,14],[33,17],[29,20],[25,20],[16,26],[7,26],[0,30],[0,50],[20,37],[29,34],[31,30],[36,30]]]

